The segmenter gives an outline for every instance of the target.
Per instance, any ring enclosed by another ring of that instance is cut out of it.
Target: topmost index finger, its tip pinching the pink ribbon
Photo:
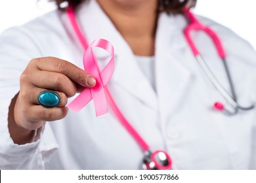
[[[37,65],[38,69],[54,73],[62,73],[81,86],[93,87],[96,84],[96,80],[92,75],[63,59],[53,57],[38,58],[33,59],[33,62]]]

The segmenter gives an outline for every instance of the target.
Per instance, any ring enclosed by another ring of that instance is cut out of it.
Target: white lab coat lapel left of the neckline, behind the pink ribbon
[[[79,8],[77,16],[88,42],[101,38],[110,41],[114,46],[116,59],[114,74],[110,79],[111,86],[119,85],[142,101],[144,105],[156,109],[156,93],[140,70],[139,65],[137,65],[131,48],[104,14],[98,3],[96,1],[87,3],[89,5],[84,3]]]

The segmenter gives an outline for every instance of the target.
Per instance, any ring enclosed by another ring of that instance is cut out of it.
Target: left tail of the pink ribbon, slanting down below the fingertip
[[[85,107],[85,105],[87,105],[91,99],[93,99],[91,91],[89,88],[86,88],[70,104],[68,104],[67,107],[74,112],[79,112],[79,110]]]

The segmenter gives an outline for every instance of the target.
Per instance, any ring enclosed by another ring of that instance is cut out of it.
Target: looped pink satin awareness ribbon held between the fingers
[[[111,55],[110,61],[101,72],[93,54],[93,47],[102,48]],[[67,107],[74,112],[78,112],[93,99],[96,116],[106,114],[108,112],[108,104],[104,86],[106,86],[114,73],[114,48],[112,44],[105,39],[96,39],[93,41],[83,55],[83,67],[85,68],[85,71],[95,76],[96,86],[93,88],[85,88],[85,90],[83,90],[83,92],[81,92]]]

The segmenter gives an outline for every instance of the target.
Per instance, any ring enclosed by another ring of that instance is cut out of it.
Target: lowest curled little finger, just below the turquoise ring
[[[55,120],[61,120],[68,114],[67,107],[53,107],[45,108],[41,105],[32,105],[28,108],[29,122],[53,122]]]

